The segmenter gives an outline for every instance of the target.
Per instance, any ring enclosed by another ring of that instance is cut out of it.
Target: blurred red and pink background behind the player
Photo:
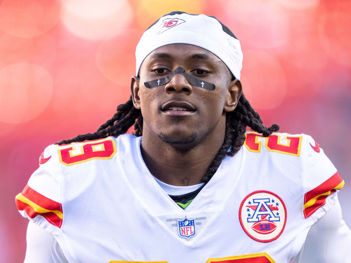
[[[346,184],[351,226],[351,1],[3,0],[0,5],[0,258],[22,262],[14,197],[44,148],[93,132],[128,100],[135,46],[174,10],[214,15],[238,37],[244,93],[266,126],[306,133]]]

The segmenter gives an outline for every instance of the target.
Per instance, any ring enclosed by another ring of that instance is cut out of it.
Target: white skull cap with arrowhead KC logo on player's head
[[[240,79],[243,52],[236,36],[214,16],[174,11],[154,22],[141,36],[135,50],[136,75],[141,63],[156,48],[184,43],[202,47],[220,58]]]

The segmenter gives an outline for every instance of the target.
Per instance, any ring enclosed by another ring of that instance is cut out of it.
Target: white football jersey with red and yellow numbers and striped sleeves
[[[245,135],[186,209],[132,135],[47,147],[16,205],[69,262],[289,262],[344,181],[310,136]]]

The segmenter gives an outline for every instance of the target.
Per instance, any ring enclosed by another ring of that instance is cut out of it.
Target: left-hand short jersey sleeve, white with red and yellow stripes
[[[56,146],[47,147],[39,159],[39,168],[32,174],[15,203],[23,217],[55,234],[61,228],[63,211]]]

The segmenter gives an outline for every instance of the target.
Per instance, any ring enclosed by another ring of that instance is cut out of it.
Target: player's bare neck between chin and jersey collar
[[[141,155],[150,173],[174,186],[200,183],[224,141],[225,129],[216,128],[190,149],[174,147],[144,128]]]

